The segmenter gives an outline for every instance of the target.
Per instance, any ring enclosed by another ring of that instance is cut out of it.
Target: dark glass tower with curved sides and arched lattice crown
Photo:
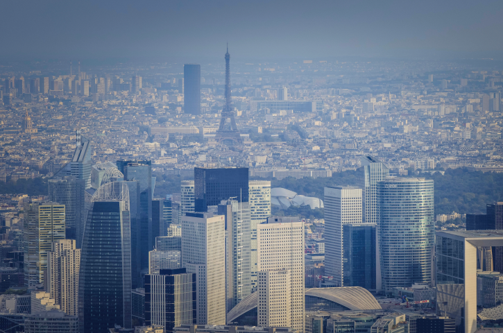
[[[124,182],[102,185],[85,224],[78,293],[80,332],[131,327],[129,191]]]

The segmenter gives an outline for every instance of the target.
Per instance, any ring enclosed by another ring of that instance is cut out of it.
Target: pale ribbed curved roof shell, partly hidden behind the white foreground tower
[[[305,296],[331,300],[350,310],[382,309],[375,297],[367,289],[361,287],[311,288],[305,289]],[[257,307],[257,302],[258,293],[255,291],[229,311],[227,322],[232,323],[242,314],[254,309]]]

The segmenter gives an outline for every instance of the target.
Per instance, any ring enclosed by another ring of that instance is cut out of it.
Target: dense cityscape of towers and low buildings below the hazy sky
[[[503,332],[502,62],[233,47],[0,64],[0,332]]]

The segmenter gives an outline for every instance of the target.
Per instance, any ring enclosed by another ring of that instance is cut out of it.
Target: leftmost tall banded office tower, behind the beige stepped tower
[[[47,252],[65,239],[65,205],[32,202],[24,206],[24,284],[44,282]]]

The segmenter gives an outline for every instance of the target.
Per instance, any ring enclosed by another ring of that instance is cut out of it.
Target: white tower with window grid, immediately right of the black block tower
[[[271,182],[250,180],[248,182],[248,202],[250,203],[251,234],[251,283],[252,291],[257,290],[257,225],[271,216]]]

